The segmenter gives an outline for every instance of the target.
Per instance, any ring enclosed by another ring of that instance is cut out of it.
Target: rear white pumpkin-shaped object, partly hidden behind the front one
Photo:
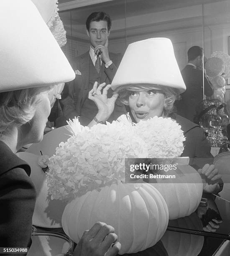
[[[163,174],[163,173],[161,173]],[[158,179],[158,183],[151,183],[164,197],[169,209],[169,220],[190,215],[199,206],[203,184],[199,173],[189,165],[177,166],[177,170],[170,170],[164,174],[175,174],[176,179]]]

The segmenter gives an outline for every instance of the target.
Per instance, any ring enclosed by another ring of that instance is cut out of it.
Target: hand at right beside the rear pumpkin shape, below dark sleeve
[[[202,169],[198,169],[197,172],[200,174],[203,182],[203,191],[207,193],[213,193],[218,182],[221,179],[221,175],[218,174],[218,169],[213,164],[205,164]]]

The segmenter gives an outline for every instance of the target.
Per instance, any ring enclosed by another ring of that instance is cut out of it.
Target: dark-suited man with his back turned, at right
[[[181,70],[186,91],[181,94],[181,100],[176,102],[177,113],[192,122],[194,122],[197,105],[203,99],[203,72],[199,69],[202,67],[202,56],[202,48],[199,46],[192,46],[188,50],[188,64]],[[204,72],[204,94],[212,96],[213,92],[212,84]]]

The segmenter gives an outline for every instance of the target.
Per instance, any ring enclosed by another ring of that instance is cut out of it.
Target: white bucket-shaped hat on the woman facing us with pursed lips
[[[149,38],[128,45],[112,90],[124,84],[158,84],[186,90],[169,38]]]

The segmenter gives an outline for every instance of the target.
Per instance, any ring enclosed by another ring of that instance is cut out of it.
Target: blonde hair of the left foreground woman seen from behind
[[[0,136],[13,127],[30,122],[42,93],[48,93],[53,85],[0,93]]]

